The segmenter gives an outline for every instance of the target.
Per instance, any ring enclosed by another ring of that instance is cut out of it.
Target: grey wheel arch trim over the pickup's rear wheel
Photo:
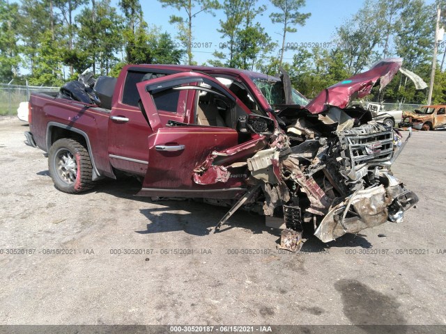
[[[90,155],[91,166],[93,167],[93,174],[91,175],[91,178],[93,181],[98,180],[102,175],[100,175],[98,168],[96,168],[93,150],[91,150],[89,136],[86,134],[86,132],[62,123],[48,122],[46,136],[47,152],[49,151],[49,148],[51,148],[51,145],[61,138],[75,139],[86,147],[86,150]]]

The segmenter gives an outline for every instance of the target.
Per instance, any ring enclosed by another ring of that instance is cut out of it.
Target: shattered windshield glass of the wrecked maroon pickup
[[[260,89],[261,93],[271,106],[285,104],[284,89],[281,81],[272,78],[252,78],[252,81],[254,81],[254,84]],[[301,106],[306,106],[308,104],[309,100],[307,100],[304,95],[300,94],[294,88],[292,88],[291,91],[294,104],[300,104]]]

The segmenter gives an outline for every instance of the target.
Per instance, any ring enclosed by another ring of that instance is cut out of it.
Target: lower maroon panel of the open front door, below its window
[[[196,184],[194,169],[215,150],[237,145],[238,133],[225,127],[163,127],[148,137],[149,166],[143,196],[233,198],[240,181]],[[243,192],[243,191],[242,191]]]

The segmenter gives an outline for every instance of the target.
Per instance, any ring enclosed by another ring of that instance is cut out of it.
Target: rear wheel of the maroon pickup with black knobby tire
[[[64,193],[81,193],[93,188],[93,167],[84,145],[71,138],[55,141],[48,152],[49,175],[56,189]]]

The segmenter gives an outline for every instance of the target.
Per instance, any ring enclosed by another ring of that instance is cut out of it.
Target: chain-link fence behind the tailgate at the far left
[[[59,87],[0,84],[0,115],[15,115],[20,102],[29,101],[31,93],[57,92]]]

